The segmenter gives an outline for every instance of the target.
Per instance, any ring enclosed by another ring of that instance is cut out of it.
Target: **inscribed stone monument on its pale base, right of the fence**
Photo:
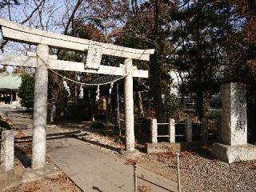
[[[246,86],[225,83],[222,93],[222,122],[213,154],[224,162],[256,159],[256,146],[247,143]]]

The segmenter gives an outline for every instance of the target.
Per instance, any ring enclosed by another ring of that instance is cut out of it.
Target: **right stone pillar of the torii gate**
[[[134,90],[133,90],[133,62],[126,58],[125,78],[125,125],[126,125],[126,151],[134,151]]]

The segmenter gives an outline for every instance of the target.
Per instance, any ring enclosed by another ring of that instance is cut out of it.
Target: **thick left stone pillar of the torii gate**
[[[49,46],[38,45],[38,66],[35,72],[34,114],[32,140],[32,169],[38,170],[46,165],[46,116],[48,71],[46,62],[49,58]]]

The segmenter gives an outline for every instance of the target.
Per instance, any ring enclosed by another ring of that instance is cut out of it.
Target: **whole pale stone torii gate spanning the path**
[[[36,68],[34,87],[34,119],[32,141],[32,169],[42,169],[46,165],[46,116],[48,67],[52,70],[70,70],[94,74],[111,74],[125,76],[125,126],[126,152],[134,152],[134,98],[133,77],[148,78],[147,70],[138,70],[132,60],[150,60],[154,50],[138,50],[112,44],[54,34],[36,30],[15,22],[0,18],[2,36],[14,42],[25,42],[37,46],[36,53],[27,56],[1,55],[0,62],[6,66],[24,66]],[[50,47],[74,51],[88,51],[86,64],[58,60],[50,55]],[[102,66],[102,55],[126,58],[120,67]]]

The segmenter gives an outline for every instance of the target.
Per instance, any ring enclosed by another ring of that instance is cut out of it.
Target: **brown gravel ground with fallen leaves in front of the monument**
[[[177,181],[176,155],[146,154],[139,164],[163,177]],[[256,161],[228,164],[202,154],[180,154],[182,191],[256,191]]]

